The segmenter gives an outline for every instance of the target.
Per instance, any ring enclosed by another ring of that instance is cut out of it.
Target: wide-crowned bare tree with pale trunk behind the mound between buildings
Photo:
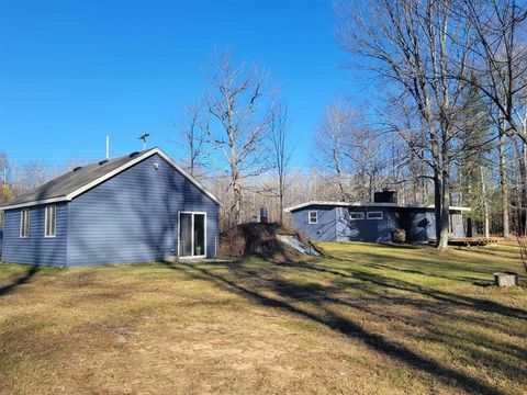
[[[209,82],[205,103],[213,121],[206,134],[229,176],[228,222],[239,224],[244,179],[268,170],[262,142],[269,131],[273,94],[267,91],[267,76],[258,67],[234,64],[228,50],[214,59]]]

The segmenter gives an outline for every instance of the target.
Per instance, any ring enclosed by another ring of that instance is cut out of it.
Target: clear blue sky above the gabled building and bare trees
[[[0,150],[23,163],[113,156],[152,134],[178,157],[169,113],[204,88],[215,48],[255,60],[282,87],[309,166],[324,108],[354,87],[332,3],[266,1],[0,1]]]

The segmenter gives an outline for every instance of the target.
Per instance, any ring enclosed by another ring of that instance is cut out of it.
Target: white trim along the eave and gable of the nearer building
[[[167,154],[165,154],[162,150],[159,148],[154,148],[150,149],[146,153],[143,153],[142,155],[137,155],[136,158],[133,160],[127,161],[123,166],[105,173],[102,177],[99,177],[97,180],[91,181],[90,183],[87,183],[82,185],[81,188],[75,190],[74,192],[68,193],[65,196],[58,196],[58,198],[52,198],[52,199],[44,199],[40,201],[33,201],[33,202],[25,202],[25,203],[19,203],[19,204],[12,204],[12,205],[5,205],[1,206],[0,210],[13,210],[13,208],[21,208],[21,207],[29,207],[33,205],[40,205],[40,204],[49,204],[49,203],[57,203],[57,202],[69,202],[74,198],[80,195],[81,193],[92,189],[93,187],[99,185],[100,183],[106,181],[108,179],[111,179],[112,177],[119,174],[120,172],[131,168],[132,166],[145,160],[146,158],[149,158],[153,155],[159,155],[162,159],[165,159],[171,167],[173,167],[177,171],[179,171],[184,178],[187,178],[190,182],[192,182],[199,190],[201,190],[203,193],[205,193],[209,198],[212,199],[213,202],[216,204],[221,205],[222,203],[220,200],[211,192],[209,191],[203,184],[198,181],[195,178],[193,178],[191,174],[189,174],[186,170],[183,170],[178,163],[176,163],[172,158],[170,158]]]

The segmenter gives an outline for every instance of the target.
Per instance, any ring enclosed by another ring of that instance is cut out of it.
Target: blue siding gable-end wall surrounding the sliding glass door
[[[69,210],[68,266],[143,262],[176,256],[178,213],[184,211],[206,213],[206,255],[215,256],[218,205],[154,155],[74,199]]]

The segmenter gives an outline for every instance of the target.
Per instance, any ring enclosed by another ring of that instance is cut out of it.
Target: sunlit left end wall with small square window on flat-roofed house
[[[307,215],[310,211],[316,211],[318,221],[316,224],[310,224]],[[312,206],[301,208],[291,213],[293,227],[310,237],[314,241],[335,241],[336,240],[336,207]]]

